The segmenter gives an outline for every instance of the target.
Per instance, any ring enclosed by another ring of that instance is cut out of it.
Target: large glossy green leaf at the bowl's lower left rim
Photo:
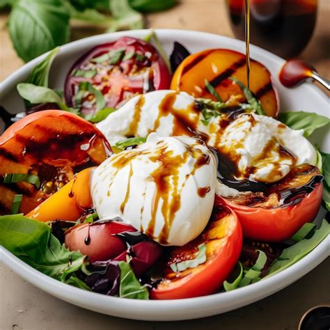
[[[61,245],[46,223],[22,214],[0,217],[0,244],[31,267],[62,282],[86,263],[86,256]]]

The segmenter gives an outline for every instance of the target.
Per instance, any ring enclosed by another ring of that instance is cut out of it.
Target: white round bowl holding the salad
[[[168,54],[173,48],[174,41],[181,42],[191,52],[198,52],[207,48],[227,48],[244,53],[245,49],[244,42],[242,41],[210,33],[168,29],[159,29],[156,32]],[[103,34],[64,45],[61,47],[61,53],[58,54],[52,66],[50,85],[56,88],[63,88],[65,74],[72,63],[94,45],[115,40],[120,36],[142,38],[147,33],[148,31],[146,30],[137,30]],[[16,91],[16,85],[19,82],[25,81],[31,69],[44,57],[45,55],[40,56],[27,63],[3,81],[1,84],[0,104],[8,111],[13,113],[24,111],[24,104]],[[313,84],[304,84],[290,90],[281,86],[278,81],[278,72],[284,63],[283,59],[255,46],[251,46],[251,58],[260,61],[272,72],[274,84],[280,96],[282,111],[309,111],[327,116],[327,111],[329,111],[328,98],[316,86],[313,86]],[[326,152],[330,151],[330,146],[327,146],[326,143],[326,141],[329,141],[329,138],[329,132],[327,132],[326,127],[319,129],[317,134],[311,136],[312,141],[317,143]],[[319,213],[317,219],[320,220],[324,213],[322,214],[322,211]],[[329,251],[330,237],[327,237],[305,258],[288,269],[283,270],[283,272],[265,280],[230,292],[167,301],[144,301],[108,297],[95,292],[74,288],[38,272],[6,249],[3,249],[2,246],[0,247],[0,260],[19,274],[19,276],[22,276],[22,278],[36,285],[38,288],[77,306],[88,308],[91,311],[135,320],[173,321],[225,313],[265,298],[310,272],[329,256]]]

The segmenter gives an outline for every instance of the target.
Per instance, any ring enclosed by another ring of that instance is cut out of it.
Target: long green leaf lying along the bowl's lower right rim
[[[283,269],[293,265],[301,258],[304,258],[304,256],[315,249],[315,247],[329,234],[330,224],[327,220],[323,219],[321,227],[315,230],[315,233],[311,238],[301,239],[301,241],[282,251],[281,256],[279,256],[273,262],[272,266],[269,267],[268,274],[265,278],[281,272]]]

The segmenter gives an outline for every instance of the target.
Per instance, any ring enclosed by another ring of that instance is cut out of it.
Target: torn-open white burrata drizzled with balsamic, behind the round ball
[[[242,114],[225,128],[220,125],[222,116],[210,118],[207,125],[203,119],[194,97],[164,90],[133,97],[98,123],[97,128],[114,144],[127,136],[148,136],[151,132],[161,136],[187,135],[189,129],[184,131],[182,127],[188,124],[193,131],[208,137],[208,146],[216,147],[235,161],[237,179],[276,182],[295,165],[316,163],[315,149],[303,136],[303,130],[290,129],[272,117]],[[222,183],[217,184],[217,193],[239,194]]]

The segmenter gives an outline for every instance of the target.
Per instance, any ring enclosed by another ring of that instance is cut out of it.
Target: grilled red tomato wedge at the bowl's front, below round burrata
[[[207,260],[197,267],[173,272],[170,265],[194,258],[200,244],[206,244]],[[207,228],[193,241],[170,250],[159,267],[164,278],[150,291],[152,299],[200,297],[219,290],[236,265],[242,249],[242,229],[236,214],[221,208]],[[163,267],[164,266],[164,267]]]

